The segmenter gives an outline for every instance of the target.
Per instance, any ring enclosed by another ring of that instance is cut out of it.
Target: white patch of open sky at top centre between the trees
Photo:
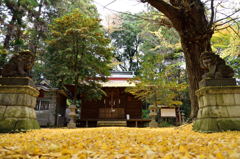
[[[94,0],[101,19],[118,12],[137,13],[144,10],[144,3],[138,0]]]

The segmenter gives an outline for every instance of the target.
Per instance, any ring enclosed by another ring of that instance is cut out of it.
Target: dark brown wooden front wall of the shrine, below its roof
[[[125,92],[125,88],[103,88],[107,96],[101,100],[82,100],[81,119],[141,119],[142,102]]]

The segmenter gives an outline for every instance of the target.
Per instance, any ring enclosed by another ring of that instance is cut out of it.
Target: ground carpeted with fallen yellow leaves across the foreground
[[[41,129],[0,134],[0,158],[240,159],[240,132],[179,128]]]

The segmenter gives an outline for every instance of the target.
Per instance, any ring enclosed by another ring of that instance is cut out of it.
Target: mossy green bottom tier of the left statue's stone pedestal
[[[36,119],[8,118],[0,121],[0,133],[22,132],[39,128]]]

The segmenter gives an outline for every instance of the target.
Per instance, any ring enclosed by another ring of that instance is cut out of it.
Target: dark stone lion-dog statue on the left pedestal
[[[30,51],[19,52],[3,66],[2,77],[30,77],[34,59]]]

